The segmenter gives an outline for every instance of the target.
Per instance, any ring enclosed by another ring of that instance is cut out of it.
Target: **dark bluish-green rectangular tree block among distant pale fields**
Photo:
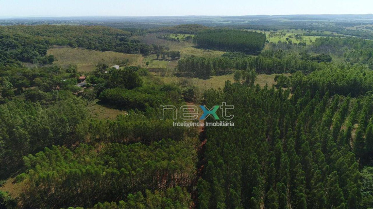
[[[257,54],[264,46],[266,35],[242,30],[203,30],[193,41],[203,48]]]

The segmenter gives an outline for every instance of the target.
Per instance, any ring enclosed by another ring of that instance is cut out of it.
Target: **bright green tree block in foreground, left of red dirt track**
[[[46,148],[24,157],[28,172],[19,178],[28,182],[22,201],[30,208],[92,207],[147,189],[187,187],[195,172],[190,165],[197,159],[190,149],[171,140],[151,146],[106,144],[99,152],[84,144],[74,152],[64,147]]]

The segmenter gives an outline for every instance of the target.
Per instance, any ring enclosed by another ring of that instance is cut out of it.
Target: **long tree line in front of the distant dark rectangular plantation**
[[[243,56],[242,54],[227,54],[220,58],[204,58],[190,56],[178,61],[176,71],[180,75],[192,77],[209,77],[224,75],[232,70],[254,69],[257,73],[295,73],[302,71],[310,73],[321,69],[331,61],[330,55],[311,56],[307,53],[285,53],[283,50],[265,51],[261,55]]]

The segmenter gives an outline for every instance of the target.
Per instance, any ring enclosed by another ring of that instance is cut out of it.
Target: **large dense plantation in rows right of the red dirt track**
[[[372,163],[372,99],[328,90],[297,88],[289,98],[289,90],[226,83],[206,92],[207,104],[234,103],[244,117],[206,129],[199,208],[366,208],[372,194],[361,192],[359,167]]]

